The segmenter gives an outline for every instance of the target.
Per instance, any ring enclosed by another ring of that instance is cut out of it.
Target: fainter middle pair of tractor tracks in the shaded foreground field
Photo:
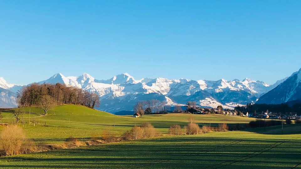
[[[206,139],[203,139],[203,140],[206,140]],[[200,141],[203,141],[203,140],[200,140]],[[230,143],[227,143],[227,144],[224,144],[222,146],[215,146],[213,148],[209,148],[209,149],[206,149],[206,150],[202,150],[202,151],[199,151],[199,152],[196,152],[196,153],[190,153],[188,155],[185,155],[185,156],[177,156],[177,157],[173,157],[173,158],[167,158],[167,159],[164,159],[164,160],[157,160],[157,161],[153,161],[153,162],[149,162],[149,163],[146,163],[146,164],[143,164],[143,165],[137,165],[137,166],[131,166],[131,167],[127,167],[127,168],[130,168],[130,169],[134,169],[134,168],[142,168],[142,167],[145,167],[145,166],[150,166],[150,165],[154,165],[154,164],[159,164],[159,163],[163,163],[163,162],[166,162],[166,161],[171,161],[171,160],[175,160],[175,159],[179,159],[179,158],[185,158],[185,157],[191,157],[191,156],[197,156],[197,155],[200,155],[200,154],[203,154],[203,153],[207,153],[207,152],[211,152],[211,151],[214,151],[214,150],[217,150],[217,149],[220,149],[220,148],[224,148],[224,147],[227,147],[227,146],[232,146],[232,145],[235,145],[239,142],[241,142],[243,140],[235,140],[235,141],[232,141]],[[191,143],[192,144],[192,143]],[[187,144],[188,145],[188,144]],[[183,145],[184,146],[184,145]]]

